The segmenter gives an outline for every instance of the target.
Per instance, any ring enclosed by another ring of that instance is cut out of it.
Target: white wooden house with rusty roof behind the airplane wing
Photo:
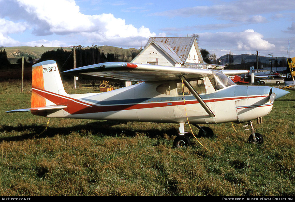
[[[222,65],[206,64],[195,37],[150,37],[132,63],[186,68],[224,69]],[[126,82],[126,86],[130,86]]]

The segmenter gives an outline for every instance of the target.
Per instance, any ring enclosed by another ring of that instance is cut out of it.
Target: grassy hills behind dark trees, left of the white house
[[[51,51],[51,50],[57,50],[63,48],[65,51],[71,51],[72,48],[68,47],[29,47],[29,46],[20,46],[20,47],[1,47],[0,50],[5,49],[7,53],[7,58],[11,64],[15,64],[19,58],[41,58],[41,55],[44,52]],[[89,49],[92,47],[82,47],[82,49]],[[113,47],[113,46],[94,46],[94,48],[98,48],[101,52],[104,52],[104,54],[107,53],[114,53],[118,54],[120,57],[127,57],[127,55],[137,55],[140,50],[137,50],[135,48],[119,48],[119,47]]]

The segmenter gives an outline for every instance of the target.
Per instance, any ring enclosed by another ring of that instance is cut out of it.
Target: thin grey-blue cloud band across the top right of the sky
[[[163,12],[150,14],[152,16],[166,17],[214,17],[219,20],[245,23],[265,23],[266,17],[263,14],[271,14],[272,12],[280,12],[293,10],[290,5],[294,4],[294,0],[230,0],[219,1],[219,4],[210,6],[194,6],[185,7]],[[261,9],[263,8],[263,9]]]

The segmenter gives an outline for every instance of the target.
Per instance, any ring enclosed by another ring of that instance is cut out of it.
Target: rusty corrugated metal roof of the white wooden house
[[[188,58],[189,51],[191,50],[194,40],[194,37],[150,37],[147,45],[149,45],[152,41],[169,45],[178,58],[181,59],[182,63],[184,63]]]

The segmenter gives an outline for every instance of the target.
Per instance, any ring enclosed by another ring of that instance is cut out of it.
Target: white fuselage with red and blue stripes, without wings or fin
[[[215,91],[208,77],[203,78],[206,92],[199,95],[215,114],[210,117],[193,95],[179,95],[179,81],[143,82],[104,93],[55,94],[38,88],[32,91],[44,96],[52,105],[64,105],[48,117],[214,124],[244,122],[268,114],[273,101],[268,100],[271,87],[231,85]],[[164,91],[159,86],[165,86]],[[159,90],[160,89],[160,90]],[[280,90],[280,89],[278,89]],[[50,105],[50,104],[46,104]]]

